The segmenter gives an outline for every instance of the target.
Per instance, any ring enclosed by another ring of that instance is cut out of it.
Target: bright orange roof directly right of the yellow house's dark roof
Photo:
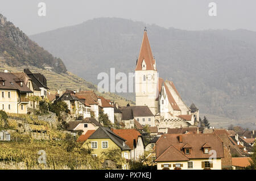
[[[126,145],[128,145],[131,149],[134,147],[134,140],[135,144],[137,144],[138,137],[141,136],[141,133],[139,133],[136,129],[113,129],[113,132],[124,138],[126,140]]]

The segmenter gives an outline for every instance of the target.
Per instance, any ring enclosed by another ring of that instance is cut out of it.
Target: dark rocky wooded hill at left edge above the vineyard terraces
[[[9,66],[35,66],[65,73],[67,69],[60,58],[53,57],[18,27],[0,14],[0,59]]]

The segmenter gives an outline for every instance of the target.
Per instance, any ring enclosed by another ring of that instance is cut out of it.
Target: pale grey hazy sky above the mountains
[[[46,16],[38,16],[38,3]],[[209,16],[210,2],[217,16]],[[125,18],[183,30],[256,31],[255,0],[0,0],[0,13],[27,35],[100,17]]]

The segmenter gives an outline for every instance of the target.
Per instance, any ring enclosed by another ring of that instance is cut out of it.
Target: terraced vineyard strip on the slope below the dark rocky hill
[[[106,99],[113,100],[114,102],[118,102],[121,106],[126,106],[127,103],[133,105],[134,102],[122,98],[119,95],[105,92],[101,93],[97,91],[97,86],[91,82],[85,81],[78,77],[75,74],[67,72],[67,74],[61,73],[58,74],[54,71],[38,69],[33,66],[31,67],[19,67],[13,68],[7,65],[0,64],[0,71],[8,70],[10,72],[22,72],[24,68],[28,68],[32,71],[32,73],[42,73],[47,78],[47,86],[49,87],[51,92],[56,92],[57,90],[93,90],[97,95],[104,96]]]

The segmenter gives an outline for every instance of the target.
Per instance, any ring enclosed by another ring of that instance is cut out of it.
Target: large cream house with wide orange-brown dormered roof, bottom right
[[[214,133],[163,134],[155,149],[158,170],[221,170],[224,157],[222,141]],[[211,150],[216,153],[216,159],[210,159]]]

